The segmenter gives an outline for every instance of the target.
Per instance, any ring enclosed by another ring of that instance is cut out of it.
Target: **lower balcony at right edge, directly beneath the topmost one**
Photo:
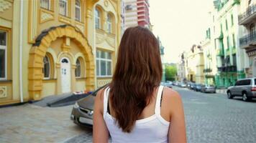
[[[256,45],[256,31],[252,31],[239,39],[239,44],[241,48],[250,48]]]

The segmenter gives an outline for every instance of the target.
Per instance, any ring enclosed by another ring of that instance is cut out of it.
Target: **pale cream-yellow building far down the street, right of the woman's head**
[[[204,51],[201,46],[193,45],[185,54],[187,79],[190,82],[204,84]]]

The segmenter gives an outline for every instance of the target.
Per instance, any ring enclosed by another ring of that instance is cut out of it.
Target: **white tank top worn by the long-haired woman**
[[[170,122],[167,122],[160,115],[160,102],[163,86],[160,86],[157,91],[157,99],[155,104],[155,114],[145,119],[136,121],[132,132],[122,132],[118,127],[118,123],[114,121],[114,117],[107,112],[109,87],[104,91],[104,120],[106,127],[109,129],[112,142],[168,142],[168,130]]]

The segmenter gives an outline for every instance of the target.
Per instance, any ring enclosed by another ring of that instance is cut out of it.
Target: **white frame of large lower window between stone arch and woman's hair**
[[[97,51],[99,51],[99,57],[97,57],[96,56],[96,62],[99,60],[99,75],[96,75],[96,77],[112,77],[112,59],[107,59],[107,54],[108,53],[110,53],[111,54],[111,52],[109,52],[109,51],[101,51],[101,50],[97,50]],[[104,54],[105,54],[105,57],[106,58],[101,58],[101,53],[102,52],[104,52]],[[111,56],[111,58],[112,58],[112,56]],[[108,71],[108,66],[107,66],[107,63],[108,63],[108,61],[110,61],[110,65],[111,65],[111,67],[110,67],[110,72],[111,72],[111,75],[101,75],[101,61],[106,61],[106,66],[105,66],[105,71],[106,71],[106,74],[108,73],[107,71]],[[97,63],[96,63],[97,64]],[[96,70],[97,70],[97,67],[96,67]],[[97,72],[96,72],[97,73]]]

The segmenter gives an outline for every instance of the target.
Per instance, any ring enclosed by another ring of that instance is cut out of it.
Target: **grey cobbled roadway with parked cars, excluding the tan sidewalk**
[[[183,98],[188,142],[256,142],[256,101],[174,87]],[[67,142],[91,142],[83,133]]]

